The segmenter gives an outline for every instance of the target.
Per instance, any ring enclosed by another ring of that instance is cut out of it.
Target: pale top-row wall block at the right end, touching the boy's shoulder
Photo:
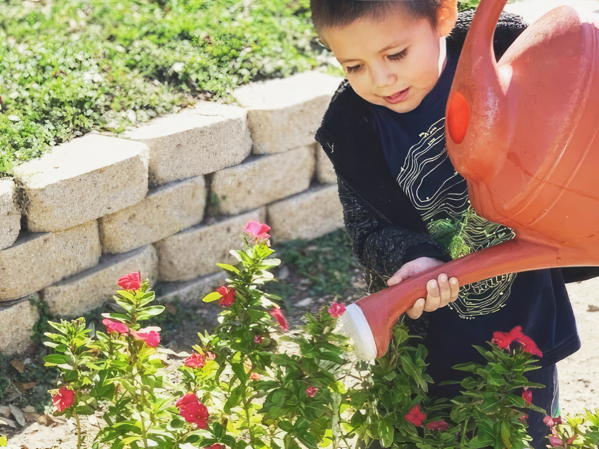
[[[253,152],[280,153],[314,143],[326,108],[343,78],[302,72],[238,87],[233,96],[247,108]]]

